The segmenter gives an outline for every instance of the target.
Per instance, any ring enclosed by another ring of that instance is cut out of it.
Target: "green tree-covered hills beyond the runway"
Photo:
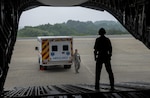
[[[18,30],[19,37],[37,36],[86,36],[97,35],[98,30],[103,27],[108,35],[129,34],[128,31],[116,21],[74,21],[68,20],[66,23],[43,24],[39,26],[25,26]]]

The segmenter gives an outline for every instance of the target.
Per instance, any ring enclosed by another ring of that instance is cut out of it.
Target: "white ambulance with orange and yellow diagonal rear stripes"
[[[39,36],[37,37],[39,51],[39,67],[62,65],[71,68],[73,63],[73,37],[71,36]]]

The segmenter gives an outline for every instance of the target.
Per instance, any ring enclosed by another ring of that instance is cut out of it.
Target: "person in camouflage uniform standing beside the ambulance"
[[[80,54],[78,53],[77,49],[75,49],[75,53],[73,56],[74,56],[75,72],[79,73],[81,58],[80,58]]]

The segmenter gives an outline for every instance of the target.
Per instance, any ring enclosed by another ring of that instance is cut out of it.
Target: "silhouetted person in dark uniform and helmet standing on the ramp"
[[[95,76],[95,89],[99,90],[100,74],[103,63],[105,64],[106,71],[109,74],[111,89],[114,89],[114,75],[111,68],[112,45],[109,38],[105,37],[106,31],[104,28],[99,30],[99,35],[94,45],[94,58],[96,61],[96,76]]]

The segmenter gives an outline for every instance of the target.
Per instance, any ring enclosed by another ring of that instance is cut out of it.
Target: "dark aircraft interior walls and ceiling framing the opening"
[[[149,0],[0,0],[0,93],[16,42],[20,15],[38,6],[82,6],[106,10],[150,48]]]

